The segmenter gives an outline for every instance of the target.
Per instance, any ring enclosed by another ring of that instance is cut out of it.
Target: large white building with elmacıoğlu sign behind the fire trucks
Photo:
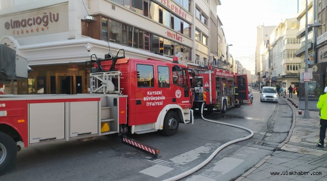
[[[0,43],[34,70],[6,85],[6,94],[87,92],[86,61],[125,50],[126,57],[188,65],[218,57],[219,0],[22,0],[0,2]],[[209,38],[211,37],[211,38]],[[213,37],[213,38],[212,38]],[[216,38],[217,37],[217,38]]]

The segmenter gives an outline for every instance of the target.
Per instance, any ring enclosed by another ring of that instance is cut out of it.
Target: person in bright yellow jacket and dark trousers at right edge
[[[320,132],[319,132],[319,140],[317,143],[317,147],[323,148],[323,141],[326,137],[326,128],[327,128],[327,86],[324,88],[324,93],[320,95],[319,101],[317,103],[317,108],[320,110]]]

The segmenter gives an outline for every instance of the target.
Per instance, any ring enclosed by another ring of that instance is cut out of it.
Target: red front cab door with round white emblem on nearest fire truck
[[[182,108],[189,108],[190,105],[190,79],[188,76],[188,70],[181,68],[177,65],[172,68],[173,84],[172,84],[172,96],[173,103],[178,104]]]

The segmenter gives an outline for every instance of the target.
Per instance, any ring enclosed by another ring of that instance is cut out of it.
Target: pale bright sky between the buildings
[[[255,74],[258,26],[277,26],[296,18],[297,0],[220,0],[217,15],[222,23],[228,52]]]

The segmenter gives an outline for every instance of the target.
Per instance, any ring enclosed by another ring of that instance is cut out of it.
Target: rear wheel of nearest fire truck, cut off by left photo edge
[[[0,132],[0,175],[14,165],[16,156],[16,142],[9,135]]]

